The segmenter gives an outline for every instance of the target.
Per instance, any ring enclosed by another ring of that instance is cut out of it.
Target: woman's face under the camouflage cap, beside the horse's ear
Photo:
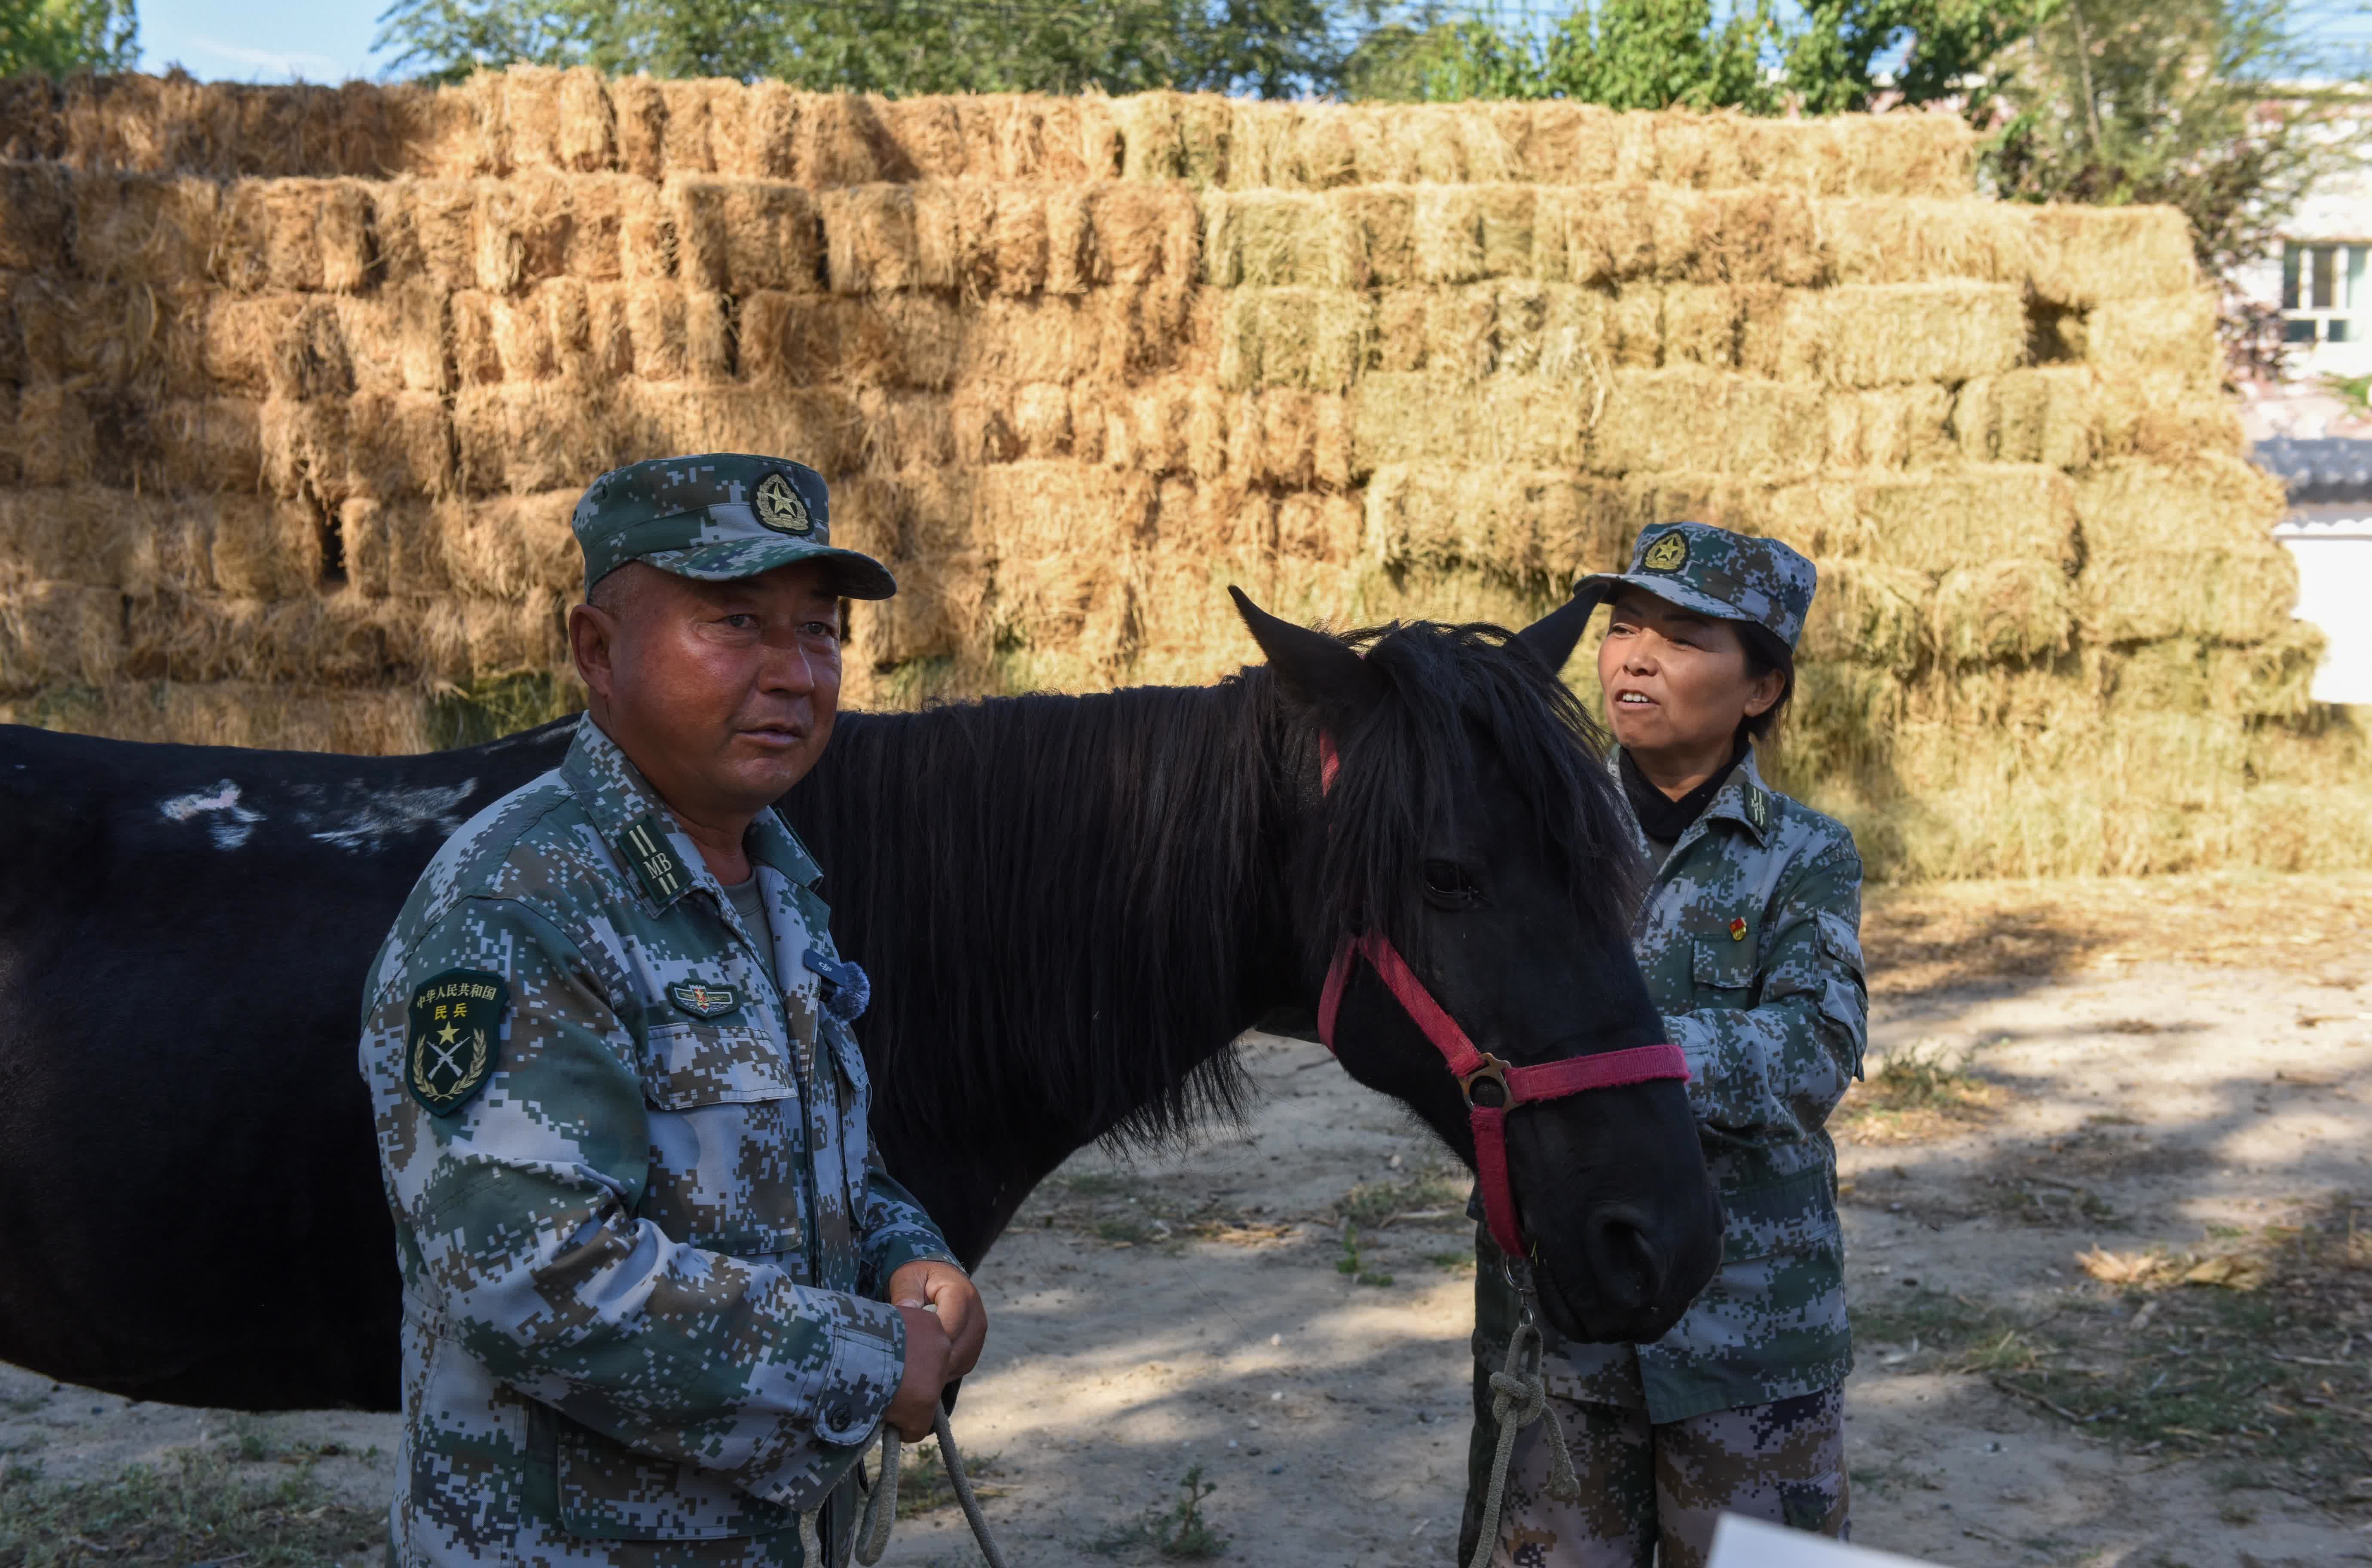
[[[1722,750],[1739,724],[1779,700],[1786,676],[1755,678],[1729,622],[1625,588],[1599,643],[1606,721],[1634,757]]]

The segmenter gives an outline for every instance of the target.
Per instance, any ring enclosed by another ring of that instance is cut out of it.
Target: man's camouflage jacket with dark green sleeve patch
[[[584,719],[380,949],[398,1568],[799,1563],[799,1513],[897,1392],[904,1324],[871,1295],[946,1243],[868,1150],[840,1018],[863,982],[816,863],[771,811],[747,852],[771,944]]]

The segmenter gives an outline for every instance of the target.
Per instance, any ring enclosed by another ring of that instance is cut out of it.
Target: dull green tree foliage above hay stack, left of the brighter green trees
[[[887,95],[1288,97],[1340,76],[1324,0],[396,0],[377,47],[429,81],[524,59]]]

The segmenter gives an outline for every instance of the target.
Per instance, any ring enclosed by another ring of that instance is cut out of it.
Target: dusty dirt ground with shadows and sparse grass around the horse
[[[2372,1563],[2372,878],[1881,892],[1867,937],[1874,1072],[1836,1122],[1855,1540]],[[1079,1155],[980,1274],[991,1340],[956,1433],[1022,1568],[1222,1542],[1276,1568],[1449,1559],[1464,1181],[1321,1048],[1243,1051],[1262,1101],[1241,1129]],[[394,1419],[0,1369],[0,1506],[192,1445],[225,1475],[311,1478],[287,1509],[361,1547]],[[31,1561],[123,1561],[62,1528]],[[885,1561],[977,1556],[954,1506],[920,1506]]]

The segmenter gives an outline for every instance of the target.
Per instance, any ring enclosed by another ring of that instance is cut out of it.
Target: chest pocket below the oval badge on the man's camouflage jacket
[[[804,1243],[804,1115],[778,1041],[738,1025],[657,1025],[643,1056],[643,1219],[671,1241],[733,1257],[771,1260]]]

